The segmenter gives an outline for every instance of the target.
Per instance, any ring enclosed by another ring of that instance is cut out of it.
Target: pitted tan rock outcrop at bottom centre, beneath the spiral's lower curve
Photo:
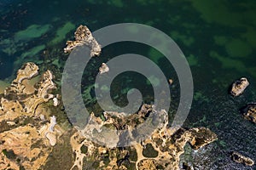
[[[166,119],[148,138],[133,142],[129,146],[114,147],[121,140],[121,133],[107,134],[103,139],[112,139],[112,147],[102,146],[96,140],[86,138],[86,133],[102,131],[102,127],[113,129],[128,129],[132,131],[154,114],[152,105],[143,105],[141,110],[131,116],[124,113],[105,112],[105,120],[90,115],[90,122],[84,130],[73,134],[71,144],[75,153],[75,163],[72,169],[86,169],[91,166],[96,169],[179,169],[179,157],[183,154],[185,144],[191,144],[197,150],[217,139],[217,135],[205,127],[183,129],[168,127],[166,111],[158,111]],[[108,126],[107,126],[108,125]],[[86,133],[85,133],[86,132]],[[85,134],[85,135],[84,135]],[[104,133],[102,133],[104,134]],[[99,135],[100,137],[101,135]],[[92,163],[92,160],[94,163]]]

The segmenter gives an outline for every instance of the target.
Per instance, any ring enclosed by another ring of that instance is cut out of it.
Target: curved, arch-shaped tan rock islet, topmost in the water
[[[99,56],[102,48],[96,39],[92,36],[87,26],[79,26],[74,33],[75,41],[67,41],[67,47],[64,48],[65,53],[70,53],[73,48],[86,45],[90,48],[90,56]]]

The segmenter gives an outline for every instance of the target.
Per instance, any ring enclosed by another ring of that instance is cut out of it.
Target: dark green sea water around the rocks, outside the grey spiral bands
[[[247,102],[256,100],[255,9],[253,0],[243,3],[2,1],[0,79],[10,82],[20,65],[33,61],[43,70],[54,71],[56,82],[60,82],[67,59],[62,48],[67,40],[73,39],[73,32],[80,24],[89,26],[91,31],[122,22],[154,26],[177,42],[193,74],[195,98],[184,126],[209,127],[218,134],[218,141],[208,146],[206,153],[199,150],[195,155],[195,167],[204,164],[204,169],[253,169],[256,167],[243,167],[230,161],[230,151],[240,151],[256,161],[256,136],[253,133],[256,127],[244,120],[239,111]],[[160,54],[139,44],[114,44],[104,49],[101,58],[93,61],[84,73],[82,88],[86,90],[93,83],[95,68],[103,61],[125,53],[147,55],[157,61],[166,77],[174,79],[171,105],[177,109],[178,82],[172,66],[166,65]],[[228,89],[231,82],[239,77],[247,77],[251,84],[241,97],[232,98]],[[117,82],[121,81],[123,79]],[[135,84],[145,93],[151,89],[150,86],[144,88],[143,84]],[[150,93],[148,96],[150,100]],[[91,108],[100,110],[95,105]],[[203,156],[203,159],[196,156]]]

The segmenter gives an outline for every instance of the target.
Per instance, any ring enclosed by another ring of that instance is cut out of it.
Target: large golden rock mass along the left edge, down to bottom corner
[[[39,111],[54,98],[54,77],[51,71],[37,76],[38,65],[26,63],[1,97],[0,169],[40,168],[63,133],[54,116],[49,121],[48,113]]]

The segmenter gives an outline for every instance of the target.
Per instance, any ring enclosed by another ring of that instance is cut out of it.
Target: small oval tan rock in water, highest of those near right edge
[[[236,80],[236,82],[232,84],[230,94],[233,96],[239,96],[244,92],[248,85],[249,82],[247,81],[247,78],[242,77],[240,80]]]

